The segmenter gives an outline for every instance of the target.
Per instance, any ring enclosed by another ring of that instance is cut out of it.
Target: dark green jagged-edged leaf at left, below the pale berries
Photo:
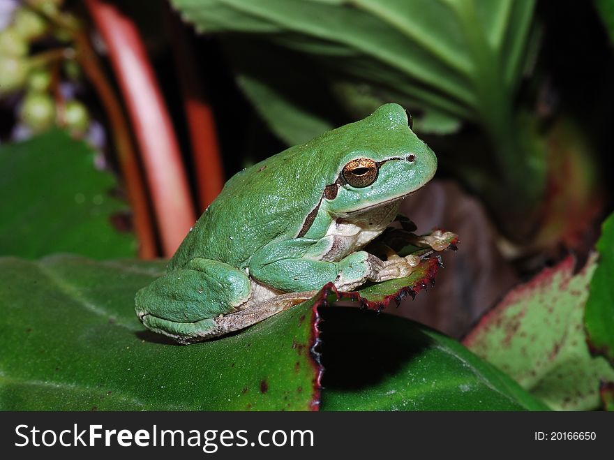
[[[0,147],[0,255],[135,255],[134,235],[111,222],[128,208],[110,195],[117,182],[96,170],[94,155],[59,129]]]

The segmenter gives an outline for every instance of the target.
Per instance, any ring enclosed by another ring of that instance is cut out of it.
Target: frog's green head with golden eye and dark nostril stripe
[[[403,107],[386,104],[330,133],[328,149],[337,152],[323,196],[330,214],[347,216],[400,200],[433,178],[437,157],[410,120]]]

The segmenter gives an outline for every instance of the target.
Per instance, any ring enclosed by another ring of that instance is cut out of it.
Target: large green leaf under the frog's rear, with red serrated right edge
[[[178,346],[146,332],[135,292],[153,262],[0,260],[2,410],[308,410],[319,369],[310,306]],[[307,319],[306,319],[307,318]]]

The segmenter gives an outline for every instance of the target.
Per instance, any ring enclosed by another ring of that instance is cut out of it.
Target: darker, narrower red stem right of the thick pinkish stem
[[[224,171],[214,115],[202,89],[195,53],[186,27],[176,14],[172,17],[175,67],[184,98],[184,111],[190,133],[196,187],[200,210],[203,211],[222,190]]]

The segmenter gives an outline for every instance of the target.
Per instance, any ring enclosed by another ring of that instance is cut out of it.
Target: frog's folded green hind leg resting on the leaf
[[[245,272],[218,260],[195,258],[137,292],[135,311],[154,332],[190,343],[230,332],[218,317],[244,308],[251,288]]]

